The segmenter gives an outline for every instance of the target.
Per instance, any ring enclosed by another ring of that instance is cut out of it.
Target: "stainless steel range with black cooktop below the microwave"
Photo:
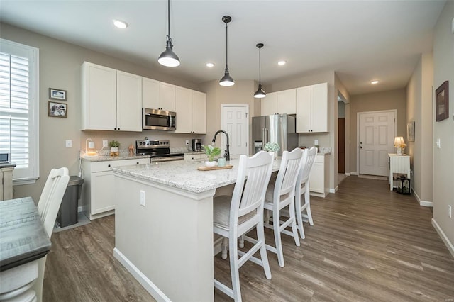
[[[170,152],[169,140],[136,140],[135,152],[138,155],[150,155],[152,162],[184,160],[184,153]]]

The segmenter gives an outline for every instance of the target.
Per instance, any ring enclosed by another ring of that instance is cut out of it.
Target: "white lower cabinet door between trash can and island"
[[[114,172],[92,173],[92,215],[114,210],[114,184]]]

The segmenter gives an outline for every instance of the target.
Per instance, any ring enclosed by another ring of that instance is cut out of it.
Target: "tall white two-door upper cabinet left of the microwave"
[[[141,131],[142,77],[84,62],[82,130]]]

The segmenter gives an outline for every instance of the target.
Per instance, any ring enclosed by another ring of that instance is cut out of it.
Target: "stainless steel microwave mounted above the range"
[[[145,130],[175,130],[177,113],[158,109],[142,108],[142,128]]]

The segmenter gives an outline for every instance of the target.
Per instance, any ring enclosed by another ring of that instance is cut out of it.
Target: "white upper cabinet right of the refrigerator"
[[[328,83],[297,88],[297,133],[328,131]]]

